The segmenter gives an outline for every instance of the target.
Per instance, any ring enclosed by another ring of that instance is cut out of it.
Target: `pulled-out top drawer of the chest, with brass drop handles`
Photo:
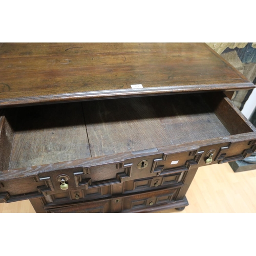
[[[176,173],[182,182],[190,168],[256,150],[255,127],[222,92],[5,109],[0,131],[0,202]]]

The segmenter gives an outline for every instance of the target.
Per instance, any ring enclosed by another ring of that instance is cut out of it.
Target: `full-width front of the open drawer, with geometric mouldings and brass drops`
[[[105,164],[103,163],[105,160],[102,161],[101,159],[76,160],[61,164],[31,167],[29,170],[18,169],[13,172],[3,172],[0,176],[0,202],[14,202],[51,195],[53,195],[53,199],[47,200],[52,200],[52,202],[54,200],[75,200],[77,197],[85,198],[88,195],[88,198],[93,199],[113,193],[151,188],[157,181],[162,185],[163,180],[159,178],[162,176],[170,176],[169,184],[178,182],[181,177],[179,175],[190,168],[206,165],[209,152],[213,153],[212,161],[209,164],[241,160],[255,152],[256,139],[243,140],[244,138],[240,139],[238,137],[237,140],[222,143],[212,141],[208,142],[208,145],[207,142],[204,142],[206,145],[202,146],[193,144],[180,146],[176,148],[177,151],[181,151],[178,153],[173,150],[173,147],[164,147],[159,148],[153,154],[145,154],[139,157],[129,155],[122,160],[119,157],[118,160],[112,159],[112,163]],[[144,168],[141,168],[142,162],[146,163]],[[16,175],[17,173],[23,177],[19,177],[19,175]],[[177,178],[178,176],[174,178],[175,175],[178,175],[179,178]],[[62,176],[68,177],[66,181],[68,184],[67,190],[60,188],[59,177]],[[149,180],[143,181],[147,178]],[[172,180],[173,178],[174,180]],[[134,182],[140,179],[142,180]],[[127,181],[131,182],[123,188],[122,184]],[[114,191],[107,188],[101,189],[105,186],[112,186]]]

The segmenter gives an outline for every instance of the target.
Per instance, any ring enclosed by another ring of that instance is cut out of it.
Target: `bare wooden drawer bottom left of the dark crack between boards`
[[[9,169],[91,157],[81,103],[10,109]]]

